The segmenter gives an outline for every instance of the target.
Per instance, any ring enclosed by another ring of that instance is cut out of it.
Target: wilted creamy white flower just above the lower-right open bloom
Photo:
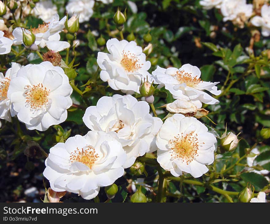
[[[190,101],[177,99],[172,103],[166,104],[166,110],[176,114],[187,114],[196,112],[198,108]]]

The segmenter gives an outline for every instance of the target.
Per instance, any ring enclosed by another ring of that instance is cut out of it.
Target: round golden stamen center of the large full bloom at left
[[[26,103],[29,103],[31,108],[37,110],[41,109],[43,106],[46,106],[49,102],[50,90],[47,90],[46,87],[43,87],[42,83],[38,83],[37,85],[33,85],[32,89],[25,92],[26,95]]]

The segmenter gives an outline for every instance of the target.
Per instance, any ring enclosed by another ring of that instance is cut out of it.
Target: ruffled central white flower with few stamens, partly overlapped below
[[[149,114],[149,105],[131,95],[103,96],[86,109],[83,122],[91,130],[111,132],[121,142],[130,167],[138,156],[156,151],[156,133],[162,121]]]

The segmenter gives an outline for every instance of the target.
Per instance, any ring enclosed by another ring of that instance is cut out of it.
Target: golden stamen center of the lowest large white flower
[[[71,153],[69,160],[73,162],[81,162],[92,169],[95,161],[99,158],[98,153],[95,152],[91,146],[86,146],[86,149],[79,150],[78,148]]]

